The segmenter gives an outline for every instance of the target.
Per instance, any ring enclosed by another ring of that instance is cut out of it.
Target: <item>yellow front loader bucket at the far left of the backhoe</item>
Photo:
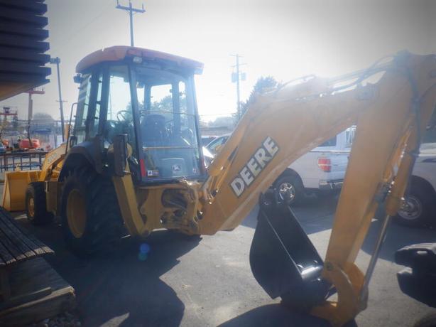
[[[39,171],[6,171],[1,206],[8,211],[26,210],[26,188],[38,181]]]

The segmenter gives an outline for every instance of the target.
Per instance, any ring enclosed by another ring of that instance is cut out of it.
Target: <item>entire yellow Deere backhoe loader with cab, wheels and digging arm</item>
[[[435,56],[398,53],[357,73],[304,77],[259,95],[207,170],[194,87],[202,67],[125,46],[82,59],[71,135],[41,171],[6,174],[4,206],[26,209],[35,223],[60,216],[67,244],[83,253],[116,241],[124,228],[138,237],[158,228],[233,230],[259,203],[250,253],[259,284],[289,306],[346,323],[366,307],[389,218],[435,107]],[[292,161],[354,124],[322,260],[269,187]],[[364,274],[354,261],[381,203],[386,219]]]

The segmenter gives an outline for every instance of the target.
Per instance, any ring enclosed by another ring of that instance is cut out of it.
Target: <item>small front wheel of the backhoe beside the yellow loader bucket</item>
[[[30,183],[26,190],[26,215],[34,225],[46,225],[53,220],[53,213],[47,211],[44,182]]]

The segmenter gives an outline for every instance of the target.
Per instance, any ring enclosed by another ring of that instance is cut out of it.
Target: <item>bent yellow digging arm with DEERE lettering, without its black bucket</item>
[[[383,73],[378,82],[362,85],[377,73]],[[322,279],[336,287],[338,300],[312,308],[338,326],[354,318],[366,307],[388,218],[366,276],[354,261],[378,205],[386,203],[388,217],[400,206],[420,133],[435,107],[435,77],[435,56],[400,53],[388,63],[348,75],[351,80],[344,87],[334,85],[337,79],[312,78],[259,95],[209,166],[200,232],[234,229],[295,159],[356,124],[322,270]]]

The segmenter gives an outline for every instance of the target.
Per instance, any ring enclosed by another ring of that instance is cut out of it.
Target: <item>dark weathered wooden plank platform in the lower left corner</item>
[[[70,310],[74,289],[42,257],[50,247],[0,207],[0,326],[23,326]]]

